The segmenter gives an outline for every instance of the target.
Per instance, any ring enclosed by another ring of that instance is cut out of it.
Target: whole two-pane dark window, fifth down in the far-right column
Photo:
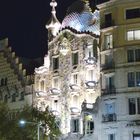
[[[129,115],[140,114],[140,98],[129,98]]]

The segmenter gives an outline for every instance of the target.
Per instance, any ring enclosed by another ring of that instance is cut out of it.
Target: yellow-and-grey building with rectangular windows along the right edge
[[[98,5],[101,20],[100,140],[140,140],[140,1]]]

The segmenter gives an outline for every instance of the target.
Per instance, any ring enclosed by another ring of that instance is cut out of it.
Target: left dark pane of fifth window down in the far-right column
[[[130,115],[136,114],[136,102],[135,102],[135,98],[129,99],[129,114]]]

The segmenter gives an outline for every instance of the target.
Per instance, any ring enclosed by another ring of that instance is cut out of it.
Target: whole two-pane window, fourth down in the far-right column
[[[128,73],[128,87],[140,86],[140,72]]]

